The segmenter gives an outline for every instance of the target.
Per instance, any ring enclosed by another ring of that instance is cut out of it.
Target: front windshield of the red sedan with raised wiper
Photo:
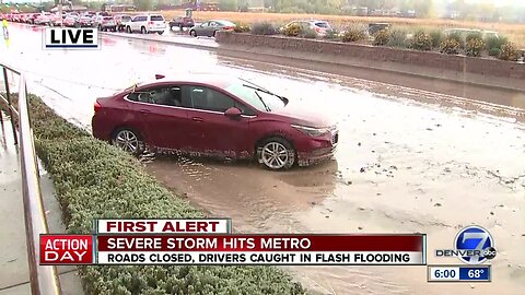
[[[264,87],[244,80],[237,80],[235,83],[230,84],[225,91],[261,111],[271,111],[287,105],[276,94],[271,94],[265,91]]]

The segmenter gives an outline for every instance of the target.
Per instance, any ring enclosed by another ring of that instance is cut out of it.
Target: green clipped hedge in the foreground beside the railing
[[[38,156],[52,177],[68,233],[91,233],[93,219],[201,217],[125,152],[98,141],[31,95]],[[86,294],[306,294],[277,268],[197,266],[80,267]]]

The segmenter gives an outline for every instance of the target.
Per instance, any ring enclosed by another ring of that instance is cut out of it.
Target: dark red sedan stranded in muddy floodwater
[[[257,158],[269,169],[330,158],[337,127],[319,114],[243,79],[160,76],[97,98],[93,135],[132,154]]]

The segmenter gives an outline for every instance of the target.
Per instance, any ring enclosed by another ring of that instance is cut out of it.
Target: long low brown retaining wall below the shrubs
[[[284,36],[219,33],[221,46],[525,91],[525,64],[465,56]],[[271,49],[271,50],[269,50]]]

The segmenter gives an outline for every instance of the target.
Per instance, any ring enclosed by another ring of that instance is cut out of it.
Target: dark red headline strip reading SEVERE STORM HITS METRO
[[[98,251],[423,251],[423,235],[103,235]]]

